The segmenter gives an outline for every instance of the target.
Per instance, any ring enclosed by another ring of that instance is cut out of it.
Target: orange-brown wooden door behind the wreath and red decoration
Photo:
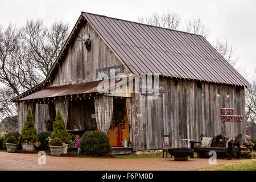
[[[115,107],[117,107],[117,104],[123,104],[125,105],[125,118],[122,121],[122,125],[121,125],[121,138],[122,138],[122,142],[123,140],[125,140],[125,138],[129,139],[129,122],[128,122],[128,118],[127,118],[127,109],[126,109],[126,102],[125,102],[125,98],[121,99],[121,98],[117,98],[114,99],[114,108],[113,111],[115,109]],[[108,131],[108,137],[109,137],[109,142],[112,146],[117,146],[117,126],[114,126],[114,121],[112,119],[111,125],[110,125],[110,129]],[[123,144],[122,144],[123,146]]]

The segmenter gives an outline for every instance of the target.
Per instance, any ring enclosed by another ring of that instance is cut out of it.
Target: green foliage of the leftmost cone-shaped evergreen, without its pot
[[[34,119],[30,107],[28,107],[26,121],[24,122],[24,127],[22,128],[22,138],[30,142],[31,140],[37,140],[37,131],[34,126]]]

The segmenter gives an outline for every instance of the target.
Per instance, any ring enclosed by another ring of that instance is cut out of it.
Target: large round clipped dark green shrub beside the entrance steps
[[[79,148],[81,154],[100,156],[108,154],[112,149],[108,135],[102,131],[86,132],[80,140]]]

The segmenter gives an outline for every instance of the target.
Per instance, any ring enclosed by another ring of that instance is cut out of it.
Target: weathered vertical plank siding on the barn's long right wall
[[[138,143],[134,140],[133,150],[162,148],[161,133],[171,134],[173,147],[187,147],[188,142],[181,139],[200,140],[201,133],[208,137],[236,137],[241,133],[245,140],[245,121],[221,121],[222,107],[234,108],[235,115],[245,118],[244,88],[171,78],[160,80],[166,84],[167,92],[156,100],[148,100],[151,96],[141,93],[135,96],[137,114],[141,117],[135,123]]]

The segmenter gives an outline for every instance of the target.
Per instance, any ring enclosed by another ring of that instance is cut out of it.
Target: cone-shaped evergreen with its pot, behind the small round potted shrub
[[[63,142],[63,151],[61,154],[67,154],[68,146],[72,146],[72,140],[69,136],[64,119],[60,114],[60,109],[58,108],[55,121],[53,122],[53,132],[51,134],[51,138],[59,138]]]

